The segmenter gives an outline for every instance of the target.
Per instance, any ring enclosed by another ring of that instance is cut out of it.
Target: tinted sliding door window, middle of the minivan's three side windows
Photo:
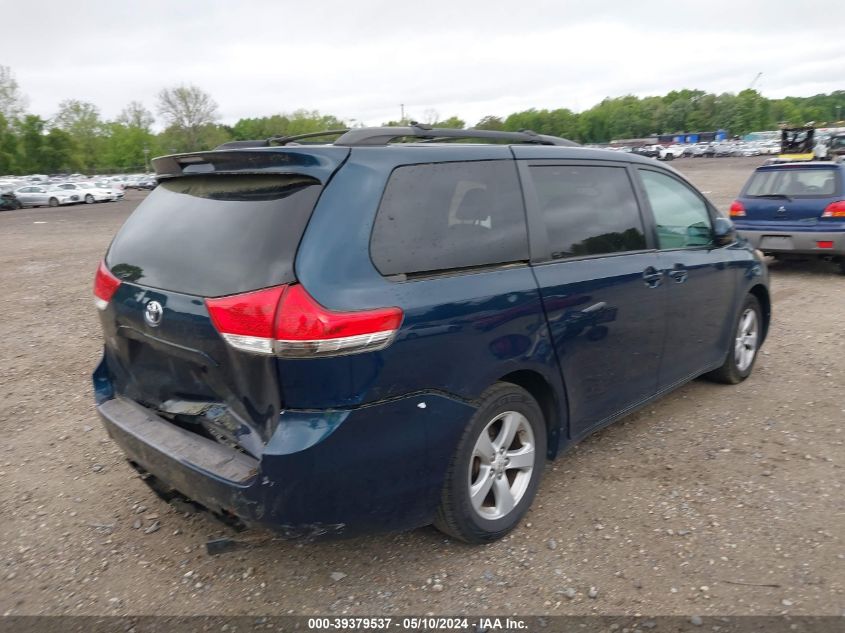
[[[553,259],[646,248],[642,218],[623,167],[529,168]]]

